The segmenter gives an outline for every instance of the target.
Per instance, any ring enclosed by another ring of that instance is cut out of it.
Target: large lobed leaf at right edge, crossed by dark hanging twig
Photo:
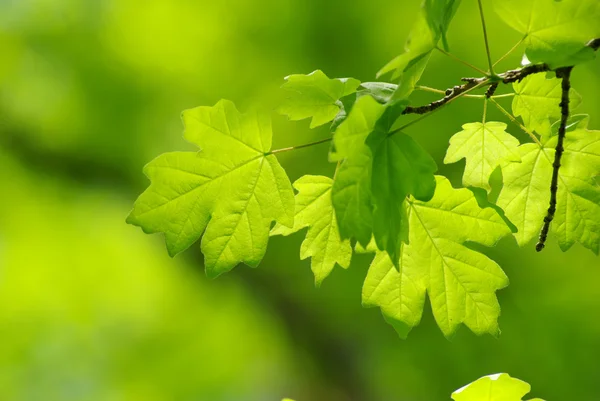
[[[542,147],[529,143],[519,147],[521,163],[502,167],[504,186],[498,206],[518,228],[520,246],[537,237],[550,201],[550,181],[557,136]],[[575,242],[598,254],[600,246],[600,131],[587,129],[581,120],[567,132],[558,180],[557,210],[551,232],[563,251]]]

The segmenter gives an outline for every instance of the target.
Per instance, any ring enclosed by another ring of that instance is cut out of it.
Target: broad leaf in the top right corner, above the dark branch
[[[494,6],[506,24],[525,35],[531,62],[556,68],[594,57],[585,45],[600,37],[598,0],[495,0]]]

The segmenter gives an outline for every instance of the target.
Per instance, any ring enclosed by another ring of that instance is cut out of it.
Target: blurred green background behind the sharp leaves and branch
[[[373,80],[419,3],[0,0],[0,400],[433,401],[504,371],[548,400],[597,399],[600,260],[580,246],[536,254],[505,239],[488,251],[511,280],[500,339],[462,329],[448,341],[428,308],[402,341],[361,308],[369,256],[315,289],[298,233],[272,238],[260,268],[208,280],[197,246],[170,259],[159,235],[124,222],[148,184],[142,166],[191,149],[182,110],[220,98],[271,107],[284,76],[317,68]],[[484,7],[498,58],[519,36]],[[449,41],[486,65],[475,0]],[[599,67],[573,78],[596,128]],[[434,54],[422,83],[465,75]],[[480,118],[480,102],[462,99],[410,128],[455,186],[464,163],[442,164],[448,139]],[[274,119],[276,148],[328,135]],[[280,160],[292,181],[331,174],[327,151]]]

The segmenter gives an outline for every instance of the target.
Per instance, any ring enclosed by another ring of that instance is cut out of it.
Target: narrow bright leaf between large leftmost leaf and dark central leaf
[[[348,268],[352,257],[350,241],[343,241],[331,201],[333,180],[329,177],[305,175],[294,182],[296,214],[294,227],[277,224],[271,235],[289,235],[308,227],[300,248],[300,259],[312,257],[311,269],[317,286],[331,273],[335,264]]]

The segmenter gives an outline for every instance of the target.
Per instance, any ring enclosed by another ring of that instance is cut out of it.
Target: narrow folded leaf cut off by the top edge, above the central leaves
[[[380,77],[393,71],[392,79],[400,78],[394,99],[405,99],[411,94],[440,39],[444,47],[448,47],[446,31],[459,5],[460,0],[423,2],[421,13],[406,42],[405,52],[392,59],[377,73],[377,77]]]

